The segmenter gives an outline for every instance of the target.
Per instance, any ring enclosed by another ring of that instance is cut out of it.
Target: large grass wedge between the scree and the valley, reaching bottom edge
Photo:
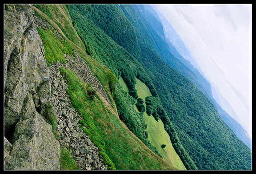
[[[60,71],[67,80],[69,86],[67,91],[72,105],[83,115],[80,124],[86,127],[83,128],[84,132],[99,147],[99,153],[108,165],[108,169],[175,169],[132,134],[113,109],[104,106],[99,96],[94,100],[90,99],[87,94],[87,83],[78,79],[68,69],[61,68]]]

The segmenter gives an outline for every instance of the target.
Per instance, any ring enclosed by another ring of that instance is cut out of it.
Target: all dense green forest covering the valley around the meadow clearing
[[[148,147],[157,153],[147,140],[143,117],[133,109],[136,100],[142,103],[136,94],[136,78],[152,94],[144,101],[145,111],[162,120],[187,169],[251,169],[251,151],[207,96],[161,59],[173,55],[157,40],[158,34],[136,5],[69,5],[68,11],[87,53],[124,79],[129,93],[116,87],[120,119]]]

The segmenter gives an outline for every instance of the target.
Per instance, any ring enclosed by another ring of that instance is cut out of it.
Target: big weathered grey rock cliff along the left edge
[[[32,5],[4,6],[4,169],[58,170],[60,144],[42,117],[51,96]]]

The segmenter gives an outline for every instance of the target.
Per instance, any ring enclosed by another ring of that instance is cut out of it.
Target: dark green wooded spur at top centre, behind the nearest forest
[[[76,8],[132,55],[139,54],[140,48],[136,32],[132,24],[115,5],[88,4],[76,5]]]

